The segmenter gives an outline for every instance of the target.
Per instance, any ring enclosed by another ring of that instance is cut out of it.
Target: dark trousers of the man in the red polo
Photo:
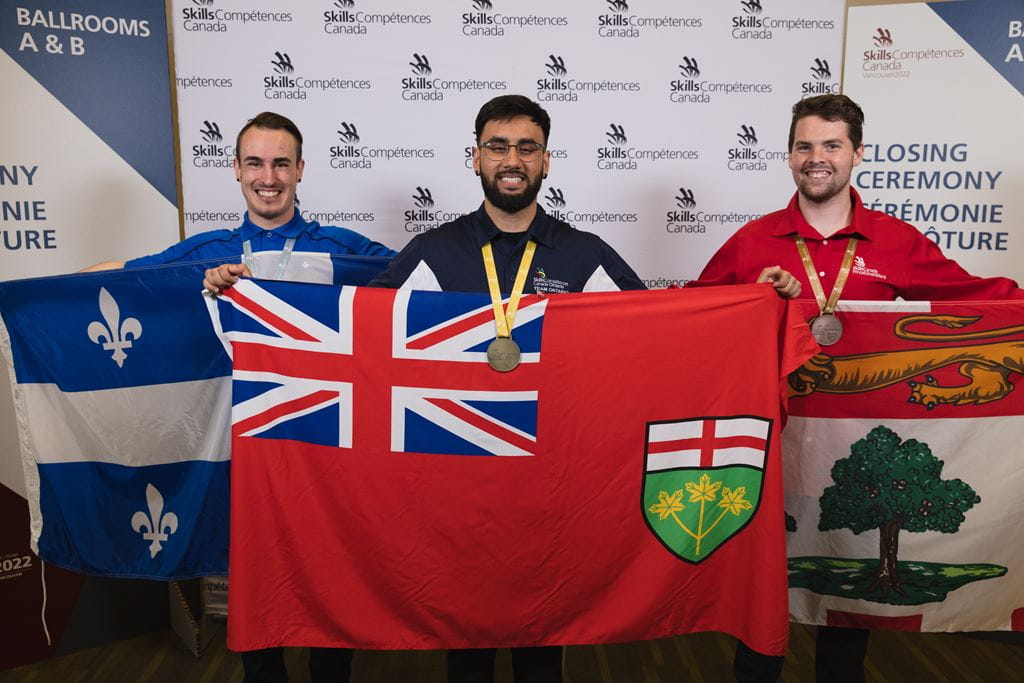
[[[871,632],[819,626],[814,646],[814,679],[818,683],[864,683],[864,658]],[[739,683],[772,683],[782,673],[785,657],[755,652],[736,641],[732,672]]]

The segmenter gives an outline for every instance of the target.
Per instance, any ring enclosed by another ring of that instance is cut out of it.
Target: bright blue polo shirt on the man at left
[[[345,284],[344,261],[332,259],[337,255],[374,256],[389,259],[395,252],[373,242],[358,232],[344,227],[321,225],[295,215],[284,225],[268,230],[253,224],[246,212],[242,225],[233,230],[210,230],[195,234],[183,242],[152,254],[125,262],[126,268],[147,265],[180,263],[185,261],[220,260],[242,262],[243,244],[252,246],[253,263],[257,278],[274,278],[282,259],[285,243],[295,239],[292,255],[288,258],[284,280],[305,283]],[[381,266],[385,261],[380,261]],[[365,281],[364,281],[365,282]]]

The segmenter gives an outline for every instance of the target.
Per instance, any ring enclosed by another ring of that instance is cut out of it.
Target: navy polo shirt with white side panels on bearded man
[[[418,234],[371,287],[443,292],[486,292],[480,248],[495,254],[502,295],[512,291],[527,240],[537,242],[526,293],[642,290],[643,283],[601,238],[578,230],[537,207],[525,232],[502,232],[483,210]]]

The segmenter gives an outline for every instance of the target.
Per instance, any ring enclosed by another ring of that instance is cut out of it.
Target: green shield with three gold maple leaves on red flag
[[[737,421],[743,424],[735,429]],[[664,427],[683,437],[658,437]],[[761,503],[770,427],[746,416],[648,424],[641,504],[647,526],[669,551],[701,562],[750,523]],[[716,428],[740,435],[716,436]]]

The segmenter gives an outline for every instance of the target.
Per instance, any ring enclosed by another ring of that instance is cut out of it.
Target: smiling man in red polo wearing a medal
[[[826,325],[812,331],[828,343],[830,315],[843,299],[891,301],[1022,299],[1024,290],[1007,278],[978,278],[946,258],[918,228],[865,209],[850,186],[850,173],[864,155],[864,113],[846,95],[820,95],[793,106],[790,169],[797,193],[790,205],[751,221],[722,245],[705,266],[698,285],[753,282],[765,266],[780,266],[814,292]],[[835,333],[835,328],[831,330]],[[819,627],[815,673],[821,681],[863,681],[869,632]],[[774,681],[782,657],[738,643],[738,681]]]

